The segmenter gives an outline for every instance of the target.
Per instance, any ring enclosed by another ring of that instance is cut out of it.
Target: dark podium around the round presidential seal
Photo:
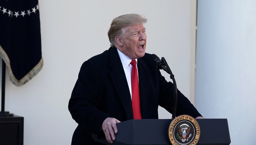
[[[170,145],[168,127],[172,119],[142,119],[117,123],[118,134],[113,144],[105,138],[96,142],[108,145]],[[196,145],[229,145],[231,143],[227,119],[197,119],[200,138]]]

